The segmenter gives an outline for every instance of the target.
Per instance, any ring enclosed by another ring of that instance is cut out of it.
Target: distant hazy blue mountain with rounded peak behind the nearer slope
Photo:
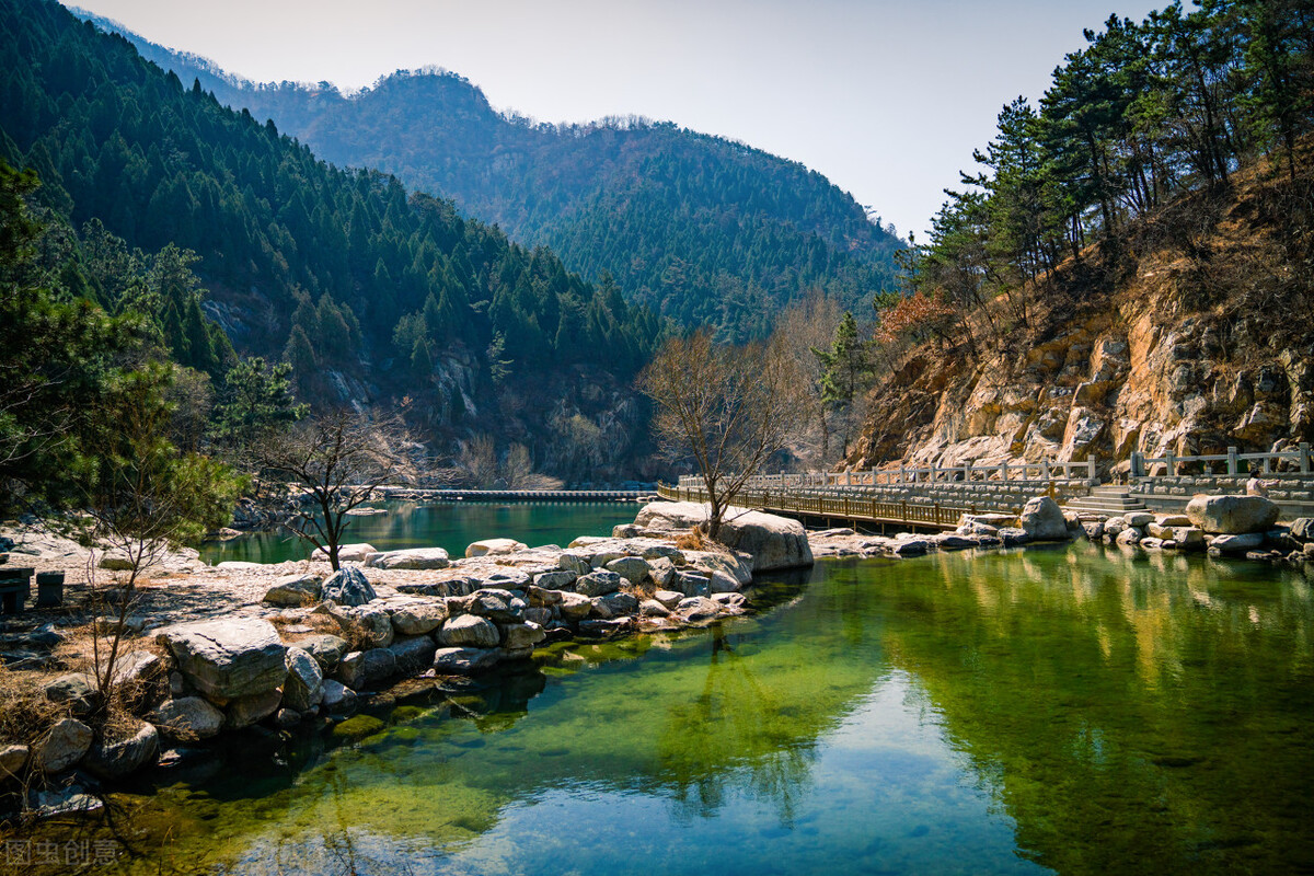
[[[92,20],[321,158],[449,197],[515,240],[551,247],[568,269],[610,273],[629,301],[685,326],[719,326],[727,339],[765,335],[773,314],[812,288],[866,313],[903,247],[820,173],[670,122],[536,123],[436,70],[399,71],[353,95],[328,83],[255,84]]]

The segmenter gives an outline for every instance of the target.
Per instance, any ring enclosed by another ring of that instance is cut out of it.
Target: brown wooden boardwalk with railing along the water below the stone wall
[[[660,485],[657,493],[674,502],[706,502],[700,489]],[[854,525],[904,525],[926,529],[957,529],[964,514],[978,514],[975,506],[917,504],[913,502],[879,502],[865,496],[803,495],[798,493],[748,490],[735,496],[744,508],[770,511],[795,517],[844,520]]]

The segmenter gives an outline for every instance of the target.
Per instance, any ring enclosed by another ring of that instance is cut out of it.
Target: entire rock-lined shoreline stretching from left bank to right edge
[[[749,611],[742,591],[754,573],[805,567],[815,557],[903,558],[1085,536],[1138,549],[1314,561],[1311,521],[1275,527],[1261,499],[1194,504],[1200,507],[1190,516],[1104,517],[1064,514],[1039,496],[1017,517],[964,516],[951,533],[890,537],[851,529],[807,533],[792,520],[736,511],[723,531],[732,548],[712,552],[682,546],[694,542],[690,528],[703,506],[660,502],[610,537],[579,537],[566,548],[493,538],[452,559],[438,548],[347,545],[342,570],[332,574],[314,558],[210,567],[196,552],[181,552],[139,587],[127,619],[127,654],[116,682],[130,692],[131,714],[93,729],[81,720],[99,697],[92,675],[30,672],[63,717],[37,738],[0,743],[0,783],[32,783],[29,804],[38,814],[85,809],[99,805],[79,784],[85,774],[116,780],[160,762],[162,754],[168,759],[170,746],[254,725],[331,725],[397,683],[477,675],[557,641],[678,630],[742,615]],[[1296,549],[1260,550],[1279,542]],[[16,556],[32,557],[38,567],[67,569],[71,559],[85,559],[75,542],[50,533],[29,544],[41,544],[49,556]],[[105,565],[113,566],[113,558]],[[62,626],[35,629],[53,653],[34,654],[33,670],[51,662],[67,670],[75,662],[60,640],[88,619],[64,616]],[[7,633],[3,645],[7,658],[13,657],[13,636]]]

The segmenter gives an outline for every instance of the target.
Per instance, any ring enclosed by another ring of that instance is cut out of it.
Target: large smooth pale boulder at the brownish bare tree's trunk
[[[635,517],[644,529],[690,529],[707,520],[708,506],[698,502],[653,502]],[[753,571],[812,565],[812,548],[803,524],[774,514],[731,507],[717,538],[753,557]]]

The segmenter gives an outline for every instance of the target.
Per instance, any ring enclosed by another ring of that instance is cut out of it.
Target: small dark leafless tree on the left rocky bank
[[[381,485],[414,477],[411,447],[401,414],[371,418],[340,408],[271,435],[258,458],[263,470],[296,481],[311,496],[314,512],[300,515],[289,528],[328,554],[336,571],[348,512]]]

